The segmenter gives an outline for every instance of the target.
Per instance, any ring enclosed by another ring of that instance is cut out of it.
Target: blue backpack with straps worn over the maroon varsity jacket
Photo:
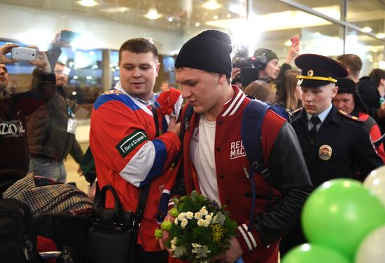
[[[250,100],[242,116],[241,123],[241,137],[244,142],[244,149],[246,151],[246,156],[248,161],[251,163],[250,170],[247,171],[248,177],[251,181],[251,207],[255,206],[255,182],[253,176],[256,173],[262,175],[267,182],[269,182],[269,198],[267,201],[267,206],[269,206],[272,198],[272,179],[270,177],[269,169],[267,168],[267,163],[263,158],[262,152],[262,142],[261,142],[261,130],[262,130],[262,121],[265,117],[267,110],[272,110],[279,116],[286,119],[286,121],[291,121],[292,115],[285,108],[281,107],[279,104],[265,103],[260,100]],[[190,104],[186,108],[186,112],[183,116],[181,123],[181,142],[183,145],[183,137],[185,131],[190,128],[190,120],[193,116],[194,110],[193,106]],[[245,171],[246,173],[246,171]],[[250,213],[250,222],[253,222],[254,209],[251,209]],[[250,223],[248,228],[251,229],[252,224]]]

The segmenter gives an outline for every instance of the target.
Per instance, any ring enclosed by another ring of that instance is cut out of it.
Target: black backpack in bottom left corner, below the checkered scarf
[[[0,199],[0,259],[7,263],[41,262],[36,252],[33,217],[15,199]]]

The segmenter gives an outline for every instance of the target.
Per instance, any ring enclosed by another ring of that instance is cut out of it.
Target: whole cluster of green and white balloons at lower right
[[[385,262],[385,166],[363,184],[323,183],[304,203],[302,229],[309,243],[290,250],[282,263]]]

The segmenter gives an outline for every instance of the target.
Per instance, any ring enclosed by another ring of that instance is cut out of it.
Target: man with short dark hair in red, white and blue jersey
[[[176,179],[179,125],[175,124],[176,116],[170,116],[168,131],[155,137],[151,101],[160,63],[151,41],[138,38],[123,43],[119,67],[120,82],[98,97],[91,114],[90,148],[97,180],[101,188],[111,184],[116,189],[126,211],[136,210],[139,187],[151,184],[139,227],[137,262],[167,262],[167,252],[160,251],[154,237],[155,217],[160,196],[169,195]],[[106,207],[113,207],[111,196],[107,196]]]

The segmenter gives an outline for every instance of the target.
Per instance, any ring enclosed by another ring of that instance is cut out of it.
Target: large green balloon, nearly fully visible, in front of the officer
[[[384,223],[381,201],[356,180],[323,183],[309,196],[302,211],[307,240],[341,252],[350,260],[363,238]]]

